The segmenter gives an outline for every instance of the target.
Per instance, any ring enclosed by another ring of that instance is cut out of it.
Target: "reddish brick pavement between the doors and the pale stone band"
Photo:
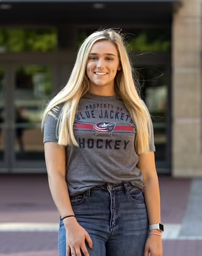
[[[182,222],[190,185],[191,179],[159,177],[162,222]],[[57,223],[59,220],[46,174],[1,175],[0,194],[3,194],[0,197],[0,222]]]

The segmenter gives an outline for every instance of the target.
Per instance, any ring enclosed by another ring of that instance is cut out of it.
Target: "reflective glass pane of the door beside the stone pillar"
[[[157,69],[144,68],[142,72],[144,80],[142,94],[154,127],[155,158],[157,160],[166,160],[168,81],[166,81],[165,75],[160,76],[161,72],[164,72],[162,67]]]

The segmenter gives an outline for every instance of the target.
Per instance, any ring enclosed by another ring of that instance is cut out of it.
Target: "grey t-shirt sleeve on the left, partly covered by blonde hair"
[[[60,111],[61,106],[57,106],[56,111],[52,110],[52,113],[57,117],[57,119],[50,115],[47,116],[43,130],[43,143],[47,141],[58,142],[58,138],[56,137],[56,127]]]

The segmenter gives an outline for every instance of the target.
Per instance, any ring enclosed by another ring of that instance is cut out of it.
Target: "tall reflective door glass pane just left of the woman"
[[[15,157],[16,160],[43,160],[40,130],[43,107],[52,91],[48,66],[20,66],[15,72]]]

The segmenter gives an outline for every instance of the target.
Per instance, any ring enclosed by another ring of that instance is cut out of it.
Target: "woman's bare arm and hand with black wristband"
[[[65,147],[57,142],[47,141],[44,143],[45,162],[48,173],[48,184],[56,207],[61,215],[65,217],[74,215],[68,187],[66,184],[66,152]],[[63,220],[66,229],[66,255],[89,256],[85,239],[92,249],[93,242],[88,232],[79,225],[75,217]],[[76,253],[76,254],[75,254]]]

